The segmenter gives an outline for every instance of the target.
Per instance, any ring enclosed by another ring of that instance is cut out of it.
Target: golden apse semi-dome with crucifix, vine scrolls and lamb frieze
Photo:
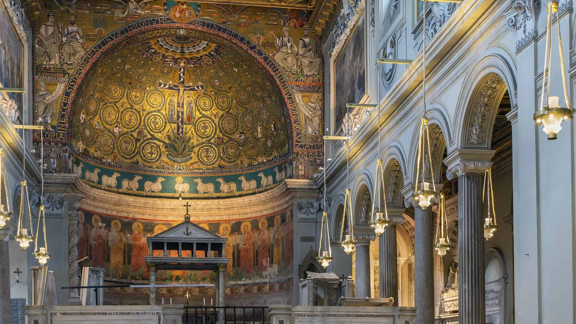
[[[86,183],[218,198],[286,178],[290,119],[274,79],[233,44],[187,33],[158,31],[90,67],[70,130],[74,172]]]

